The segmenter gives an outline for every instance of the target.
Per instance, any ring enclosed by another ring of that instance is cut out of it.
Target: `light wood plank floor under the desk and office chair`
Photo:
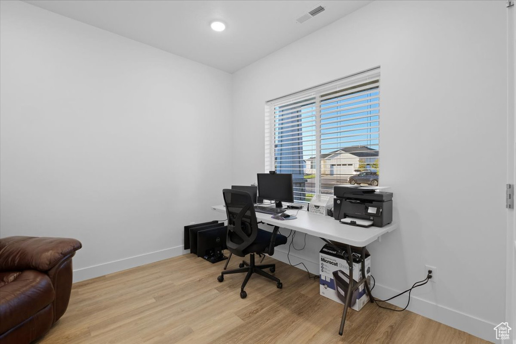
[[[234,256],[228,269],[241,258]],[[58,343],[486,343],[408,310],[367,304],[348,312],[319,296],[318,280],[271,257],[283,289],[253,275],[217,276],[223,263],[192,254],[73,285],[65,315],[38,344]]]

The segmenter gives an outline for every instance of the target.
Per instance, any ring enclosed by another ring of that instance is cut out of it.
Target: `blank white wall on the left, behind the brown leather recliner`
[[[183,226],[217,218],[231,185],[231,75],[0,9],[1,236],[79,239],[75,281],[183,253]]]

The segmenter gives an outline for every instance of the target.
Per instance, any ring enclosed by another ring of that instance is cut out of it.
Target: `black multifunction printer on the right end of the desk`
[[[374,188],[355,185],[335,185],[333,194],[335,220],[347,217],[370,220],[375,227],[383,227],[392,222],[392,192],[380,192]]]

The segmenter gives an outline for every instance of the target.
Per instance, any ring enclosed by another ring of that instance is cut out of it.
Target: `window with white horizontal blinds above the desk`
[[[334,185],[378,185],[379,68],[269,101],[265,112],[266,171],[293,174],[296,202]]]

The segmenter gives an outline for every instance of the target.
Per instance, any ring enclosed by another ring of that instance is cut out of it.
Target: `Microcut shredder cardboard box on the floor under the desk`
[[[360,263],[360,252],[351,251],[353,255],[353,281],[357,283],[362,279],[362,264]],[[341,271],[339,275],[348,276],[349,277],[349,266],[344,259],[343,256],[337,254],[335,249],[333,249],[330,245],[326,244],[319,252],[319,293],[336,301],[338,303],[344,304],[345,300],[345,292],[347,286],[344,282],[340,281],[339,285],[334,279],[334,272],[338,273]],[[369,252],[366,251],[365,254],[365,270],[367,276],[367,282],[370,283],[371,279],[371,256]],[[342,299],[342,300],[341,300]],[[365,289],[365,285],[362,284],[356,291],[353,292],[351,296],[351,300],[355,300],[356,302],[351,302],[351,309],[360,310],[365,306],[367,302],[369,302],[369,297],[367,296],[367,291]]]

